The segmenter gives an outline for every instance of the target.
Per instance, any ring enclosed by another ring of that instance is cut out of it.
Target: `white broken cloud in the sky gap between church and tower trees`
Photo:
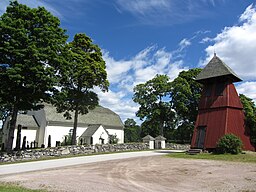
[[[110,91],[101,93],[97,91],[100,104],[111,108],[121,115],[122,120],[134,118],[138,111],[138,105],[132,101],[133,88],[139,83],[145,83],[156,74],[167,74],[171,80],[178,76],[179,72],[186,70],[183,61],[173,57],[185,49],[181,49],[187,43],[180,43],[177,50],[167,51],[156,45],[145,48],[129,59],[116,60],[109,52],[103,52],[106,61]]]

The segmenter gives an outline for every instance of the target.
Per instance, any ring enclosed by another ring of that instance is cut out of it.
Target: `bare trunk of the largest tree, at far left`
[[[6,151],[11,152],[12,151],[12,144],[14,139],[14,130],[17,122],[17,116],[18,116],[18,109],[14,106],[12,111],[12,116],[10,120],[10,127],[8,131],[8,139],[7,139],[7,145],[6,145]]]

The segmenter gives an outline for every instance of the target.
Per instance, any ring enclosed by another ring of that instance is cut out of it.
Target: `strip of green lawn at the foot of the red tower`
[[[221,161],[233,161],[233,162],[246,162],[256,163],[256,153],[248,152],[245,154],[231,155],[231,154],[211,154],[202,153],[197,155],[189,155],[186,153],[171,153],[167,157],[171,158],[184,158],[184,159],[207,159],[207,160],[221,160]]]

